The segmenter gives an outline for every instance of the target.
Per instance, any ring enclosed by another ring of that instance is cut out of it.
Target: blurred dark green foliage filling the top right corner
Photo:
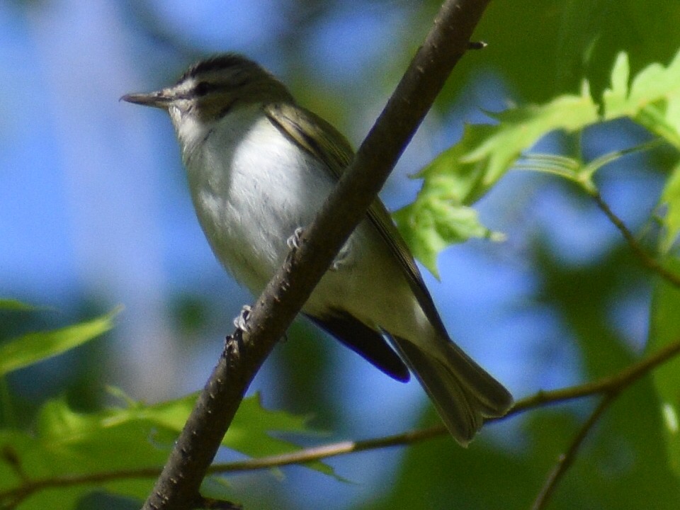
[[[435,9],[441,2],[428,4]],[[489,47],[463,59],[450,90],[460,91],[481,67],[499,70],[522,101],[573,91],[583,77],[599,96],[621,50],[630,55],[634,74],[650,62],[672,59],[680,47],[680,34],[672,29],[678,23],[680,4],[667,0],[492,1],[475,31]]]

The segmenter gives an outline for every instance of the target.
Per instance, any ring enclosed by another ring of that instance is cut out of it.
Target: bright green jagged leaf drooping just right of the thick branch
[[[416,177],[423,187],[395,221],[416,259],[437,274],[436,258],[446,246],[472,237],[502,239],[470,208],[514,165],[521,152],[553,130],[572,132],[596,122],[597,106],[587,83],[579,96],[559,96],[493,115],[497,125],[467,125],[463,137]]]

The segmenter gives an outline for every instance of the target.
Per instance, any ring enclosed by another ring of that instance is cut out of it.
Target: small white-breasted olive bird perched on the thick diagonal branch
[[[255,62],[227,54],[125,101],[170,114],[191,197],[217,259],[256,295],[352,159],[345,138]],[[397,380],[409,369],[467,444],[509,392],[448,336],[404,240],[375,200],[302,309]]]

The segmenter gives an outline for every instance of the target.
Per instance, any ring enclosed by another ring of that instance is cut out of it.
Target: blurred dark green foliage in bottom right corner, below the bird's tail
[[[551,510],[676,508],[677,480],[664,463],[664,438],[651,384],[635,387],[608,410],[557,489]],[[630,412],[631,406],[635,412]],[[645,419],[640,419],[640,415]],[[433,417],[433,416],[432,416]],[[519,448],[494,441],[487,427],[468,449],[445,438],[404,452],[393,489],[364,510],[524,510],[531,508],[557,457],[579,429],[567,409],[533,412],[522,423]],[[512,441],[517,443],[518,440]],[[650,505],[650,502],[654,502]]]

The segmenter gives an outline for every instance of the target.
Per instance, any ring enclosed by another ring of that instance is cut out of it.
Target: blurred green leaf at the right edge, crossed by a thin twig
[[[667,268],[680,274],[680,261],[667,260]],[[658,351],[680,341],[680,289],[662,278],[657,278],[652,295],[650,339],[647,351]],[[659,414],[664,418],[664,434],[671,467],[680,476],[680,358],[658,367],[652,379],[661,402]]]

